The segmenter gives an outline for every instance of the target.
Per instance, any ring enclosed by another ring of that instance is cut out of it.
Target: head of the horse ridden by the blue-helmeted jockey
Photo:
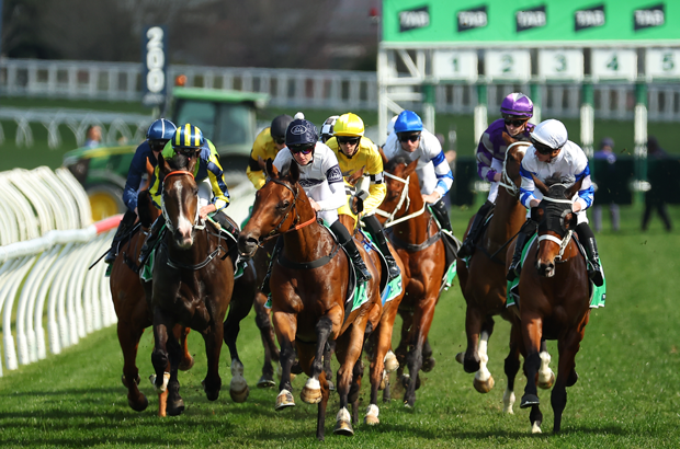
[[[418,166],[418,159],[409,161],[404,157],[396,157],[387,160],[383,151],[381,150],[383,158],[383,170],[385,172],[385,184],[387,187],[387,194],[383,204],[379,206],[382,210],[378,210],[376,216],[381,223],[385,223],[387,220],[393,220],[397,212],[406,203],[404,212],[408,209],[409,185],[416,186],[416,196],[420,197],[420,180],[416,168]]]

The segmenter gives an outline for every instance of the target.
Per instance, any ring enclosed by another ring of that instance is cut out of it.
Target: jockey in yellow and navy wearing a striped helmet
[[[203,133],[196,126],[190,124],[182,125],[177,129],[170,142],[163,148],[162,157],[169,160],[178,153],[188,159],[199,158],[193,174],[199,187],[199,217],[201,220],[205,220],[208,214],[214,211],[220,212],[226,209],[229,205],[229,191],[227,189],[224,172],[219,164],[219,156],[213,142],[204,138]],[[149,193],[156,207],[162,209],[162,180],[160,179],[158,166],[156,166],[155,174],[156,181]],[[216,214],[215,220],[225,230],[234,231],[224,214]],[[163,215],[154,222],[139,254],[139,263],[141,265],[146,263],[151,250],[156,245],[165,223],[166,218]]]

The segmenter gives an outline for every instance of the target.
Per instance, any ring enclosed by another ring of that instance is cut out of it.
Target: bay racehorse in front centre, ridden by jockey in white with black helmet
[[[365,284],[366,298],[351,310],[345,303],[349,258],[330,231],[317,222],[316,212],[298,183],[296,163],[279,172],[269,159],[265,165],[269,181],[256,194],[252,216],[239,235],[241,254],[251,256],[262,240],[282,235],[284,246],[271,274],[272,312],[276,337],[281,347],[282,377],[276,410],[295,405],[291,394],[291,367],[295,348],[299,365],[309,379],[301,393],[307,403],[318,403],[317,438],[324,440],[324,424],[329,388],[324,371],[324,354],[329,339],[336,341],[336,356],[340,362],[336,389],[340,395],[340,411],[335,433],[353,435],[354,417],[361,387],[361,353],[364,332],[370,318],[377,321],[382,311],[378,272],[365,250],[358,245],[373,277]]]

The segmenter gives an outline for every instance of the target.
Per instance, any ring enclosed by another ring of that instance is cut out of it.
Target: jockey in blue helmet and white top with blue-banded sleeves
[[[387,159],[404,156],[409,161],[418,159],[422,199],[430,204],[442,230],[453,234],[444,195],[453,184],[451,166],[446,162],[439,139],[422,127],[422,120],[412,111],[401,111],[395,122],[394,133],[383,147]]]

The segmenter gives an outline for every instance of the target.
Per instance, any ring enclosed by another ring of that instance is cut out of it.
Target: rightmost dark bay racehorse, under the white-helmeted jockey
[[[566,388],[578,380],[575,357],[590,316],[586,258],[573,239],[577,219],[571,211],[571,198],[580,189],[582,180],[568,187],[559,181],[558,174],[546,180],[545,184],[535,176],[533,179],[544,197],[540,206],[532,209],[532,219],[539,222],[539,238],[537,243],[529,249],[520,274],[519,313],[526,376],[520,407],[531,407],[532,431],[541,431],[543,414],[535,382],[541,365],[539,350],[542,338],[556,339],[559,362],[551,403],[555,415],[553,431],[559,433],[567,404]],[[510,261],[513,249],[508,251]]]

